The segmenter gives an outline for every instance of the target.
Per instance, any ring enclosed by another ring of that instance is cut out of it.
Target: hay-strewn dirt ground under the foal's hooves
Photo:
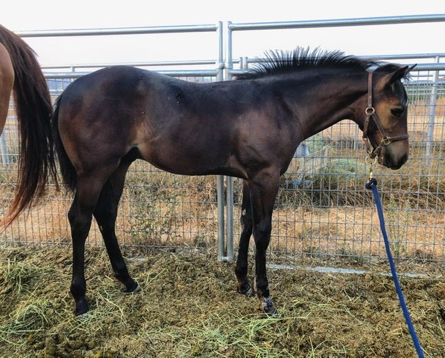
[[[123,293],[104,249],[88,247],[91,310],[75,317],[69,245],[0,247],[0,356],[415,355],[390,277],[269,269],[278,313],[267,317],[256,298],[236,293],[233,263],[214,254],[124,254],[142,291]],[[401,278],[427,357],[445,352],[442,272]]]

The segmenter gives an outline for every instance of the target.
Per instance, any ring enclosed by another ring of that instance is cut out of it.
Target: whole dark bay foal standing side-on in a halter
[[[75,191],[68,218],[76,314],[88,311],[84,249],[93,215],[115,276],[128,292],[139,289],[115,235],[125,175],[137,158],[176,174],[243,179],[238,291],[252,295],[247,260],[253,234],[254,289],[268,314],[275,311],[266,277],[271,217],[280,175],[298,144],[350,119],[366,127],[366,139],[379,148],[380,164],[398,169],[405,163],[407,95],[401,79],[409,67],[308,49],[271,52],[269,58],[236,81],[217,83],[108,67],[74,81],[58,98],[54,141],[63,179]],[[372,75],[370,66],[377,66]],[[378,124],[374,117],[369,120],[371,109]]]

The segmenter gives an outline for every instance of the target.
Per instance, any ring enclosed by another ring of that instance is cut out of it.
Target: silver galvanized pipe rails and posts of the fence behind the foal
[[[152,26],[152,27],[131,27],[124,29],[72,29],[72,30],[49,30],[49,31],[16,31],[22,38],[47,38],[62,36],[96,36],[96,35],[135,35],[135,34],[154,34],[154,33],[197,33],[197,32],[216,32],[218,38],[218,60],[191,60],[191,61],[165,61],[152,63],[131,63],[135,67],[148,66],[171,66],[171,65],[211,65],[215,64],[214,70],[163,70],[157,71],[168,76],[212,76],[217,81],[229,81],[236,74],[245,73],[248,64],[253,62],[262,62],[265,59],[241,58],[234,60],[232,58],[233,31],[250,30],[277,30],[277,29],[307,29],[307,28],[329,28],[340,26],[369,26],[369,25],[388,25],[388,24],[414,24],[428,22],[445,22],[445,14],[437,15],[410,15],[401,17],[367,17],[358,19],[325,19],[297,22],[269,22],[269,23],[239,23],[233,24],[227,22],[225,31],[223,23],[191,25],[191,26]],[[224,43],[226,47],[224,47]],[[225,54],[224,54],[225,52]],[[435,58],[435,63],[419,64],[417,71],[435,71],[432,83],[438,83],[439,71],[445,70],[445,63],[440,63],[440,58],[445,58],[445,53],[439,54],[405,54],[405,55],[385,55],[385,56],[363,56],[370,59],[415,59],[415,58]],[[234,70],[234,63],[240,63],[240,70]],[[44,69],[63,69],[69,68],[71,72],[47,72],[47,79],[75,79],[89,72],[76,72],[76,68],[96,68],[107,67],[114,64],[79,64],[79,65],[60,65],[45,66]],[[430,95],[430,122],[428,124],[428,138],[432,138],[434,126],[435,99],[437,97],[437,88],[433,86]],[[431,121],[432,118],[432,121]],[[225,197],[225,181],[227,184],[227,195]],[[217,195],[218,195],[218,261],[232,261],[234,259],[234,180],[232,177],[217,176]],[[227,206],[225,208],[225,200]],[[226,221],[227,220],[227,221]],[[227,235],[227,242],[225,238]]]

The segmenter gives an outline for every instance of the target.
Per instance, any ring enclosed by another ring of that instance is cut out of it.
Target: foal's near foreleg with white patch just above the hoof
[[[266,275],[266,250],[272,230],[272,212],[278,192],[280,175],[278,172],[264,170],[252,178],[249,183],[252,201],[253,236],[255,241],[255,288],[261,302],[261,308],[267,314],[275,313],[270,299]]]

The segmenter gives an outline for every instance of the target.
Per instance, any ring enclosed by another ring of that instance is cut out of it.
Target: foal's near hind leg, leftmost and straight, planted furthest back
[[[116,165],[117,166],[117,165]],[[85,241],[90,231],[92,213],[95,210],[104,182],[115,168],[89,172],[78,178],[76,195],[68,212],[72,235],[72,282],[70,291],[76,302],[76,314],[88,311],[85,280]]]

